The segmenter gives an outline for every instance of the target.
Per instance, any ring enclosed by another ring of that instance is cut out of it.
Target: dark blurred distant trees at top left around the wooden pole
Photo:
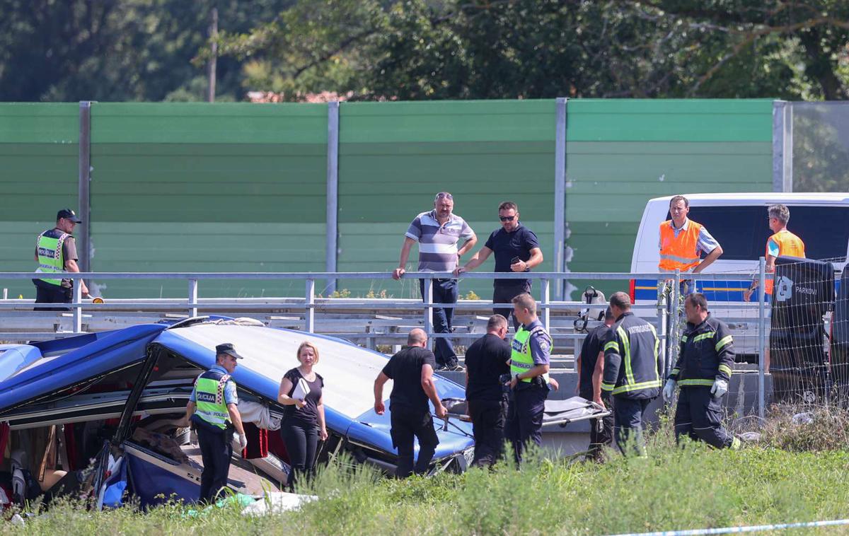
[[[0,100],[203,100],[205,66],[191,59],[207,42],[211,8],[223,31],[246,31],[291,3],[0,0]],[[241,68],[218,61],[225,100],[243,98]]]

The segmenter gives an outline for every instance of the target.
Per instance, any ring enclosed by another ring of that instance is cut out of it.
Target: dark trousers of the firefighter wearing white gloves
[[[684,434],[717,449],[734,445],[734,436],[722,427],[722,399],[714,398],[711,388],[681,388],[675,408],[675,440]]]

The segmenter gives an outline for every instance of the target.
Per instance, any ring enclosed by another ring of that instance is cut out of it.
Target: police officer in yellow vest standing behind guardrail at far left
[[[72,233],[76,224],[82,222],[71,209],[61,209],[56,214],[56,226],[42,232],[36,238],[36,272],[41,274],[33,279],[36,286],[37,304],[70,304],[74,298],[74,281],[57,276],[64,272],[79,272],[76,265],[76,242]],[[86,283],[80,280],[83,296],[88,295]],[[67,307],[37,308],[37,310],[68,310]]]

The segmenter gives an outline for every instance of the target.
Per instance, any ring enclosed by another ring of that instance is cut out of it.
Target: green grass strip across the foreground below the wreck
[[[235,508],[188,517],[182,505],[140,513],[59,505],[0,524],[26,534],[601,534],[724,527],[849,516],[849,451],[674,448],[655,435],[649,456],[604,465],[543,456],[521,470],[386,480],[346,463],[319,472],[316,503],[245,518]]]

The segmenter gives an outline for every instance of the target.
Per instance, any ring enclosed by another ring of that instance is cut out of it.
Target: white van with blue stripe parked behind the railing
[[[835,260],[842,268],[849,249],[849,193],[694,193],[683,194],[689,200],[689,219],[705,226],[722,246],[722,256],[705,273],[738,272],[739,280],[704,281],[697,290],[704,293],[711,310],[722,320],[731,317],[756,318],[757,312],[722,310],[722,303],[743,303],[743,291],[749,288],[764,255],[767,238],[767,207],[785,204],[790,209],[787,228],[805,243],[808,259]],[[631,271],[658,271],[660,224],[669,220],[672,196],[650,199],[643,212],[634,243]],[[655,280],[631,280],[631,296],[636,303],[657,301]],[[745,330],[745,326],[740,326]],[[746,330],[748,331],[748,330]],[[738,352],[751,352],[756,345],[746,337]],[[743,341],[740,341],[742,343]],[[743,348],[745,346],[745,348]]]

